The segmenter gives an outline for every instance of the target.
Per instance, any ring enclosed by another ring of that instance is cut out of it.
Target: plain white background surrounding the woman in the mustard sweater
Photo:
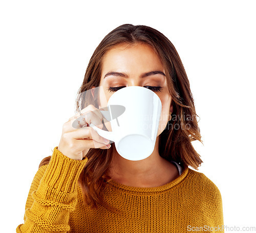
[[[201,118],[199,172],[221,191],[225,225],[256,226],[255,1],[92,2],[0,5],[1,231],[24,223],[32,179],[75,114],[89,59],[124,23],[176,47]]]

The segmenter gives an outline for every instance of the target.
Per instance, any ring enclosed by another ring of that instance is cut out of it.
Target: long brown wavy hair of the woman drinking
[[[77,93],[75,112],[78,113],[91,104],[99,108],[97,88],[95,88],[94,97],[91,91],[87,90],[91,90],[93,86],[99,86],[104,55],[121,43],[129,45],[146,43],[159,55],[166,71],[168,90],[173,103],[172,119],[168,121],[167,127],[159,136],[159,154],[167,161],[180,163],[184,168],[191,166],[198,170],[203,161],[191,141],[198,140],[202,144],[203,142],[189,81],[176,48],[156,29],[145,25],[123,24],[103,38],[87,66],[82,85]],[[107,131],[104,122],[102,124],[103,130]],[[115,143],[112,143],[112,147],[107,150],[91,148],[87,153],[88,162],[81,172],[78,184],[83,194],[84,204],[97,208],[98,203],[120,213],[99,195],[100,189],[104,187],[104,181],[108,182],[111,179],[106,173],[109,171],[114,149]],[[48,164],[50,159],[51,156],[43,159],[39,167]]]

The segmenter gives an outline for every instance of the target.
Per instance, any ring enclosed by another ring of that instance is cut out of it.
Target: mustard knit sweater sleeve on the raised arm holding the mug
[[[69,213],[77,203],[77,180],[88,158],[73,160],[55,147],[48,165],[36,172],[18,233],[68,232]]]

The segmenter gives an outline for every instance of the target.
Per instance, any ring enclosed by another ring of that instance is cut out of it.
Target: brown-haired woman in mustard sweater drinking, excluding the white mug
[[[122,158],[115,143],[89,126],[111,131],[99,109],[127,86],[151,89],[162,102],[155,149],[140,161]],[[76,102],[77,114],[63,124],[59,145],[39,165],[17,232],[220,230],[220,191],[188,168],[202,163],[191,145],[202,140],[185,69],[163,34],[123,24],[106,35]]]

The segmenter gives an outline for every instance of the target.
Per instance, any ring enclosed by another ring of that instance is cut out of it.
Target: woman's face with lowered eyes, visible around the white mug
[[[148,76],[141,77],[142,74],[152,71],[161,71],[163,74],[152,73]],[[111,74],[108,74],[110,72]],[[173,112],[173,107],[170,106],[172,98],[170,97],[164,74],[163,64],[150,45],[116,45],[103,58],[99,108],[108,106],[110,96],[120,89],[117,87],[141,86],[151,89],[158,95],[162,102],[162,112],[157,133],[157,136],[159,136],[166,127],[169,111]],[[152,87],[161,88],[154,90]]]

